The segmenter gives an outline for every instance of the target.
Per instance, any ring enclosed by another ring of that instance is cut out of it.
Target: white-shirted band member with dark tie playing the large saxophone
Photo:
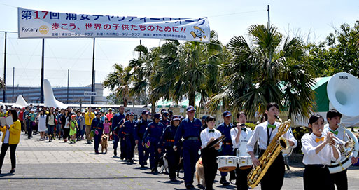
[[[268,120],[264,123],[258,124],[255,127],[252,133],[253,135],[247,143],[247,151],[248,154],[251,155],[252,163],[254,165],[260,165],[260,162],[257,158],[255,158],[255,155],[253,153],[255,142],[258,141],[260,148],[259,156],[262,156],[262,154],[265,153],[265,149],[267,149],[268,145],[278,132],[279,125],[281,125],[281,123],[276,122],[276,116],[279,115],[278,104],[274,102],[269,103],[267,105],[265,114],[267,114]],[[288,140],[290,147],[297,147],[297,140],[295,140],[290,130],[287,130],[287,132],[283,134],[283,137]],[[284,172],[285,170],[283,155],[279,154],[279,156],[276,157],[275,161],[272,163],[272,165],[269,167],[266,174],[260,181],[261,189],[281,189],[281,187],[283,186]]]

